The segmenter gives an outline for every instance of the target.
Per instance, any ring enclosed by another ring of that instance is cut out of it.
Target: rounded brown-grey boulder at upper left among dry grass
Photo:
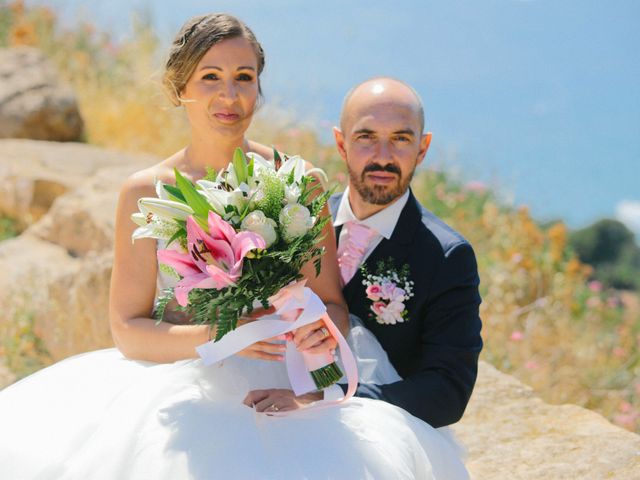
[[[73,141],[82,129],[73,91],[42,52],[0,49],[0,137]]]

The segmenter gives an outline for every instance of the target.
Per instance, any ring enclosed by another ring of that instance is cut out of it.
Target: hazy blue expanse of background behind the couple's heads
[[[498,185],[539,219],[618,215],[640,234],[636,0],[31,3],[119,35],[146,7],[167,42],[192,15],[237,15],[265,48],[267,102],[324,138],[353,84],[392,75],[424,99],[431,164]]]

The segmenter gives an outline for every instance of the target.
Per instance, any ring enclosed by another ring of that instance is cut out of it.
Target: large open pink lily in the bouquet
[[[244,257],[251,250],[265,248],[264,239],[254,232],[236,233],[218,214],[209,212],[209,233],[193,216],[187,218],[188,253],[158,250],[160,263],[169,265],[182,276],[175,288],[176,300],[183,307],[194,288],[222,289],[242,275]]]

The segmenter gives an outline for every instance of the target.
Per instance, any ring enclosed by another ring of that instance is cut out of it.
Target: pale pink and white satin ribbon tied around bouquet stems
[[[256,342],[284,335],[287,332],[322,319],[326,328],[338,342],[342,366],[347,376],[347,393],[337,400],[320,400],[304,410],[308,411],[337,405],[351,398],[358,384],[358,370],[353,352],[338,327],[327,315],[327,307],[320,300],[320,297],[310,288],[305,287],[305,283],[305,281],[302,281],[290,284],[269,298],[269,303],[276,307],[275,314],[265,315],[255,322],[238,327],[217,342],[212,340],[196,347],[196,351],[202,358],[203,363],[205,365],[217,363]],[[329,353],[309,354],[299,352],[295,344],[288,341],[285,363],[289,382],[294,393],[302,395],[316,390],[307,367],[315,370],[328,365],[332,361],[333,357]],[[268,412],[268,414],[271,416],[285,416],[294,411]]]

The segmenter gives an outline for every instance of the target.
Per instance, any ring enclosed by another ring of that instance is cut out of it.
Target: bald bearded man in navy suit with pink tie
[[[347,95],[334,134],[349,171],[346,191],[329,201],[343,293],[402,377],[359,384],[356,396],[433,427],[455,423],[482,349],[479,278],[469,243],[409,188],[431,141],[421,100],[398,80],[368,80]]]

